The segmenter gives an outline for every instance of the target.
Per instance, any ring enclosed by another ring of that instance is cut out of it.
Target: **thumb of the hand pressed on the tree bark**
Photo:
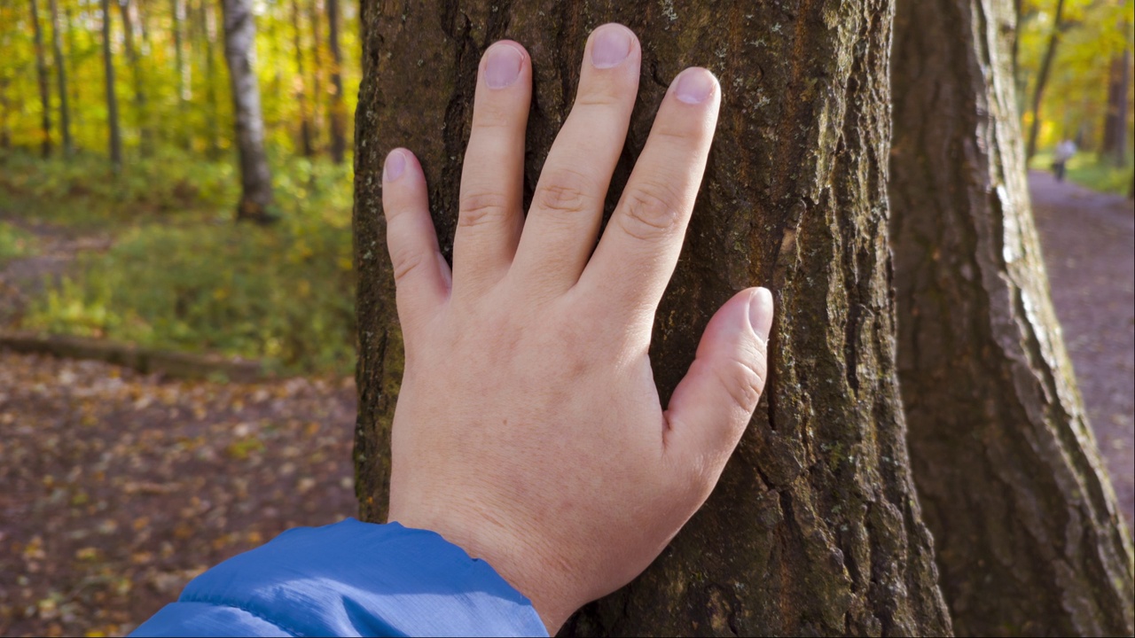
[[[741,291],[714,314],[697,358],[666,410],[666,450],[688,460],[713,482],[732,454],[765,387],[766,343],[773,295]]]

